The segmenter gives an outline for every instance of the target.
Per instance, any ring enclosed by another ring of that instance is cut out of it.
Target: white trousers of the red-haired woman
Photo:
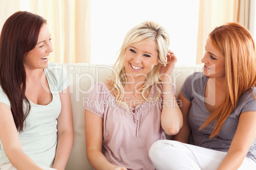
[[[216,170],[227,152],[197,147],[174,140],[159,140],[149,151],[150,159],[157,170]],[[256,169],[256,162],[245,157],[239,170]]]

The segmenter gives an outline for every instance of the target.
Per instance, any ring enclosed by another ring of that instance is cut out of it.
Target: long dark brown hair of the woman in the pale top
[[[39,30],[46,20],[27,11],[11,15],[3,25],[0,36],[0,84],[8,96],[11,113],[19,132],[31,105],[25,97],[24,58],[36,46]],[[24,101],[27,110],[24,110]]]

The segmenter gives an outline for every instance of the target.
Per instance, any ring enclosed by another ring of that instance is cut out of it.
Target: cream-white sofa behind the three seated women
[[[90,166],[86,155],[83,98],[89,92],[90,86],[98,81],[105,81],[107,77],[110,77],[112,67],[110,65],[89,63],[61,65],[66,68],[70,81],[69,88],[75,132],[74,145],[66,170],[90,170],[93,168]],[[188,75],[200,70],[202,70],[201,65],[177,65],[173,72],[173,83],[176,85],[176,93],[180,92],[180,88]]]

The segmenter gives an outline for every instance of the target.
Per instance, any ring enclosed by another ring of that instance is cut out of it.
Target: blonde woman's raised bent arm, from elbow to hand
[[[167,65],[160,69],[163,88],[161,126],[167,134],[174,135],[180,131],[183,120],[170,77],[173,73],[174,65],[177,62],[177,58],[171,50],[169,50],[167,55],[167,62]]]

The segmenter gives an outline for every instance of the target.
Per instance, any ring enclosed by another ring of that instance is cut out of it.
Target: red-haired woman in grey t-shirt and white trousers
[[[178,96],[184,125],[176,141],[154,143],[150,158],[157,169],[256,169],[253,38],[227,23],[211,32],[205,48],[203,72],[190,75]]]

